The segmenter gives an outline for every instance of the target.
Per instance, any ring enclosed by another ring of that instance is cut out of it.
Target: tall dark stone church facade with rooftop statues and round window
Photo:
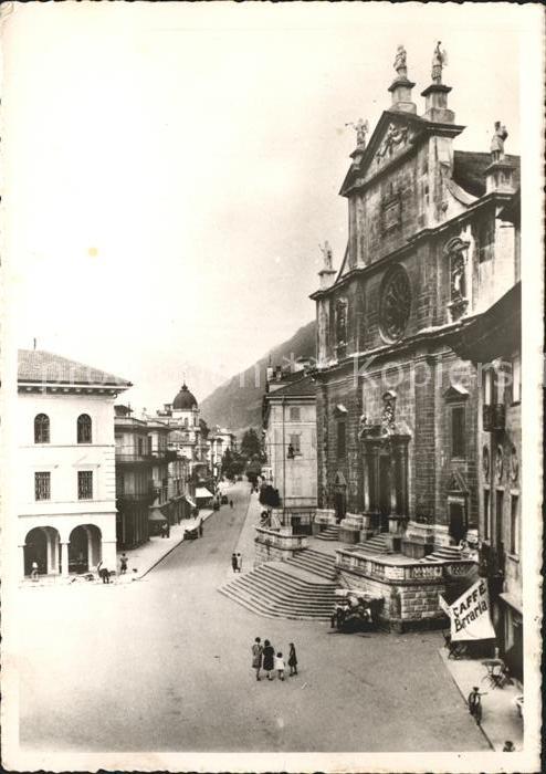
[[[391,106],[357,147],[342,265],[325,244],[317,314],[318,506],[365,548],[378,533],[416,559],[477,536],[477,368],[450,336],[518,279],[518,186],[497,122],[490,153],[455,149],[464,130],[434,52],[424,111],[400,46]]]

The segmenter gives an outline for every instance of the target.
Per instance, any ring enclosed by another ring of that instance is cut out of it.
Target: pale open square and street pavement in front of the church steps
[[[232,511],[140,582],[21,590],[21,656],[32,665],[22,670],[23,747],[486,751],[440,635],[338,635],[259,618],[218,593],[249,504],[245,482],[232,492]],[[300,674],[256,682],[256,636],[283,652],[294,641]]]

